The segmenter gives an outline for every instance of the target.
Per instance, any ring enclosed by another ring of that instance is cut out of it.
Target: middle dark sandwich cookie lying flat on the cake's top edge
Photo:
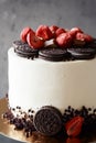
[[[64,61],[67,56],[67,52],[61,47],[45,47],[39,52],[39,57],[45,61],[60,62]]]

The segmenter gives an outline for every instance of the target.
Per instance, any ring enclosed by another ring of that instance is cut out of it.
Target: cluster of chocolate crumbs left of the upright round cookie
[[[17,111],[18,110],[18,111]],[[23,130],[26,138],[32,135],[32,132],[35,131],[33,125],[33,114],[29,116],[23,111],[20,111],[21,107],[12,108],[11,110],[3,113],[3,119],[7,119],[10,124],[14,124],[14,130]],[[14,117],[13,112],[18,112]],[[23,117],[22,117],[23,114]]]

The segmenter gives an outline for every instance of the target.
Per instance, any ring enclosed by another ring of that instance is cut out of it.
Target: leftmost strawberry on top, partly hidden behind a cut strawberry
[[[20,40],[21,40],[22,42],[26,42],[26,35],[28,35],[28,33],[29,33],[30,31],[32,31],[32,32],[34,33],[34,31],[33,31],[30,26],[26,26],[26,28],[24,28],[24,29],[21,31],[21,33],[20,33]]]

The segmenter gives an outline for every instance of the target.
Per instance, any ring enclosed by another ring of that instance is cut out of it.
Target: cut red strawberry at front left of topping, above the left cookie
[[[44,41],[35,36],[32,31],[28,33],[26,41],[32,48],[41,48],[44,45]]]

